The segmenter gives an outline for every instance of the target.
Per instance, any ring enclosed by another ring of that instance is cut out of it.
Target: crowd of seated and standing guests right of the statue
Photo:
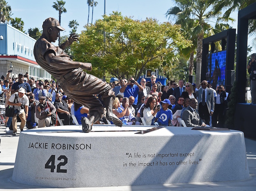
[[[162,86],[154,75],[140,84],[112,78],[110,85],[117,97],[113,113],[123,124],[179,126],[181,118],[186,126],[224,127],[228,93],[223,85],[214,90],[206,80],[196,87],[180,79]]]

